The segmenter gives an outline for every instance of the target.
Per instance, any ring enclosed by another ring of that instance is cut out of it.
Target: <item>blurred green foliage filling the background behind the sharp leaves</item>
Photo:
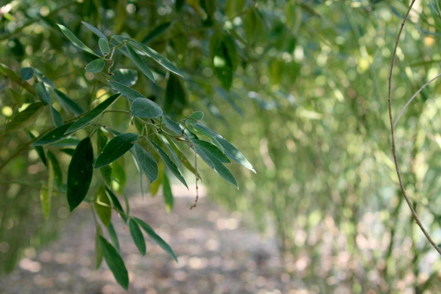
[[[402,34],[393,73],[395,116],[440,72],[441,15],[435,1],[417,1]],[[91,48],[97,48],[98,38],[81,21],[108,35],[133,36],[175,62],[184,75],[176,119],[204,111],[205,124],[241,150],[257,171],[231,167],[239,183],[235,190],[200,167],[208,196],[243,213],[262,234],[276,232],[292,277],[317,285],[320,293],[340,285],[354,293],[440,291],[440,257],[403,201],[390,151],[388,74],[409,1],[3,2],[0,62],[17,73],[29,65],[40,69],[84,108],[94,86],[97,96],[107,88],[84,74],[92,56],[72,46],[55,23]],[[221,28],[231,34],[239,57],[229,90],[209,60],[210,37]],[[135,69],[123,56],[115,60],[115,68]],[[156,83],[138,74],[133,88],[161,104],[167,76],[159,66],[152,70]],[[29,99],[10,86],[0,80],[1,125]],[[404,184],[435,242],[441,242],[439,93],[440,83],[430,84],[396,127]],[[35,134],[49,120],[49,114],[41,116]],[[118,114],[112,125],[130,129]],[[23,131],[2,138],[0,161],[27,140]],[[66,170],[69,156],[59,156]],[[126,193],[138,192],[133,163],[120,165]],[[1,171],[2,272],[14,268],[22,249],[55,238],[57,220],[68,217],[59,195],[51,220],[43,220],[39,186],[47,174],[34,150]]]

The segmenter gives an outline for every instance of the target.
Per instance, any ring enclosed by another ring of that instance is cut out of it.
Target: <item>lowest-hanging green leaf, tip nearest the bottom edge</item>
[[[120,254],[118,254],[118,251],[116,251],[116,249],[113,248],[113,246],[107,242],[105,238],[100,236],[99,239],[106,264],[108,265],[110,271],[112,271],[116,282],[127,290],[129,287],[129,275],[123,259],[120,257]]]

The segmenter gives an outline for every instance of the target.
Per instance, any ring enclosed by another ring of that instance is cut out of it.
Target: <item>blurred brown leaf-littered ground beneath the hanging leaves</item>
[[[288,293],[294,285],[281,268],[274,240],[263,240],[239,216],[201,198],[176,197],[166,214],[160,196],[131,198],[131,215],[149,223],[174,249],[179,264],[148,237],[142,257],[127,226],[113,219],[130,275],[129,293]],[[61,238],[28,254],[17,269],[0,279],[1,294],[118,294],[103,261],[94,270],[95,227],[85,205],[69,217]]]

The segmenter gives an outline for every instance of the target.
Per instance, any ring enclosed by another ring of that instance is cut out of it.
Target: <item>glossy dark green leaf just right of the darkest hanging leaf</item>
[[[98,155],[93,168],[97,169],[107,164],[111,164],[123,156],[133,147],[133,142],[138,140],[138,135],[126,133],[115,136],[104,146],[103,151]]]

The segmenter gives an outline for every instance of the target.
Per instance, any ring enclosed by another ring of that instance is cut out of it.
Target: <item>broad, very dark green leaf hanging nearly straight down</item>
[[[67,202],[72,212],[86,197],[93,174],[93,148],[89,137],[80,141],[67,169]]]

